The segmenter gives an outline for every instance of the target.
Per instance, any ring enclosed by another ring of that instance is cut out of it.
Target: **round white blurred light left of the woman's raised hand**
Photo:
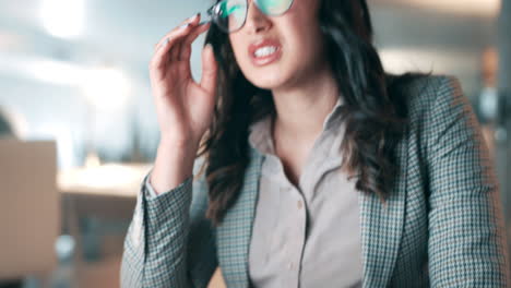
[[[82,87],[96,109],[111,111],[126,106],[130,83],[121,70],[104,67],[87,71]]]

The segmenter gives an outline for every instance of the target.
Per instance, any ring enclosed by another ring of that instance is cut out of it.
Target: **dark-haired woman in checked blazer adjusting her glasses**
[[[364,0],[209,11],[151,62],[162,137],[122,286],[205,287],[218,266],[228,287],[507,286],[495,171],[456,80],[385,74]]]

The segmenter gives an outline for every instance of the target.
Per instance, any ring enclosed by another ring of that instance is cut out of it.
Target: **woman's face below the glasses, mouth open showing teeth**
[[[317,16],[321,0],[295,0],[280,16],[268,16],[248,1],[245,25],[229,34],[248,81],[261,88],[286,88],[321,69],[324,52]]]

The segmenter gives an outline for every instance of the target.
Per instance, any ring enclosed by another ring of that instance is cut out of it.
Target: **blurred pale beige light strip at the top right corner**
[[[501,0],[387,0],[406,5],[438,10],[449,13],[496,16]]]

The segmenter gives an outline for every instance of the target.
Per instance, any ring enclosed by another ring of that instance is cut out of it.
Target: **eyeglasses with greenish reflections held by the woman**
[[[278,16],[287,12],[294,0],[252,0],[262,13]],[[201,24],[213,22],[225,33],[240,29],[247,20],[248,0],[222,0],[206,11],[210,17]]]

